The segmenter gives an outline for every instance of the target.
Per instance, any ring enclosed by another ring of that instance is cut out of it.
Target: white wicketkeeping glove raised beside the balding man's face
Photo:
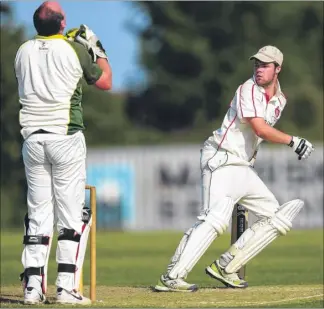
[[[98,37],[88,26],[82,24],[75,33],[74,40],[82,44],[89,51],[94,62],[97,58],[108,58]]]

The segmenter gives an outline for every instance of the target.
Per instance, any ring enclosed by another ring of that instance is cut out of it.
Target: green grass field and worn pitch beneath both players
[[[323,231],[291,231],[261,252],[247,267],[249,288],[225,289],[204,269],[229,245],[230,235],[217,239],[188,277],[196,293],[154,293],[181,233],[97,233],[97,299],[92,307],[304,307],[323,308]],[[1,307],[23,307],[18,279],[22,235],[1,233]],[[49,265],[49,301],[56,276],[55,245]],[[89,284],[89,252],[84,265],[85,295]],[[53,304],[51,304],[52,306]],[[43,306],[44,307],[44,306]]]

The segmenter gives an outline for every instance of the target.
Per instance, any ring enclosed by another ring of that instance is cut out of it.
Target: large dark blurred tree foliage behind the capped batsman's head
[[[308,135],[322,126],[323,3],[136,5],[150,17],[150,24],[139,29],[149,80],[146,89],[128,98],[133,123],[166,132],[215,126],[237,86],[252,75],[249,56],[271,44],[284,53],[280,81],[291,102],[282,125]]]

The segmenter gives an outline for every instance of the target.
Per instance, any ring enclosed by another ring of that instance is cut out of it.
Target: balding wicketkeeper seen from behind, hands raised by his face
[[[44,2],[33,20],[38,35],[20,46],[14,64],[28,185],[21,259],[24,303],[45,301],[56,225],[57,302],[89,304],[78,291],[91,225],[84,212],[82,80],[109,90],[112,73],[105,50],[87,26],[63,35],[66,18],[57,2]]]

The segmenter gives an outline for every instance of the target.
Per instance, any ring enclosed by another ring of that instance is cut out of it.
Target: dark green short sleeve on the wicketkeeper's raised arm
[[[102,69],[92,61],[88,51],[80,43],[68,42],[72,45],[79,58],[85,81],[88,85],[94,84],[102,75]]]

